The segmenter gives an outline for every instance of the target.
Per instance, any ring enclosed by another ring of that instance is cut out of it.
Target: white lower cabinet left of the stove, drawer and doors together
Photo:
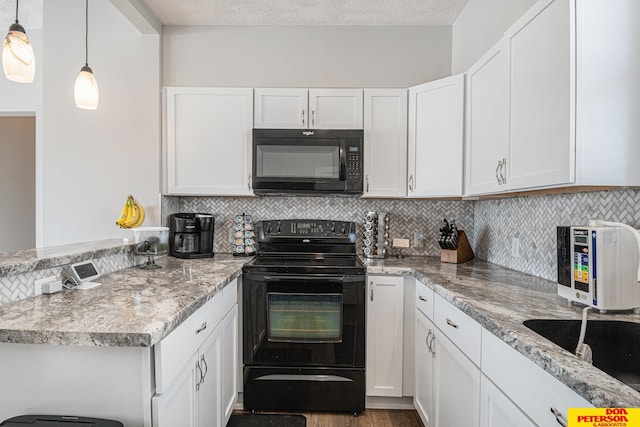
[[[199,335],[197,347],[183,357]],[[237,348],[233,281],[156,345],[153,426],[224,427],[237,401]]]

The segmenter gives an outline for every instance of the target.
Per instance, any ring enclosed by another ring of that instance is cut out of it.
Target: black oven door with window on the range
[[[244,364],[364,367],[364,276],[243,277]]]

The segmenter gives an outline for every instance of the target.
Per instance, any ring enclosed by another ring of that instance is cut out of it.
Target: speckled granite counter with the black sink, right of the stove
[[[456,265],[435,257],[408,257],[365,264],[369,274],[415,276],[594,406],[640,407],[639,392],[522,324],[527,319],[581,319],[582,309],[559,297],[555,283],[481,260]],[[640,323],[637,314],[590,312],[589,319]]]

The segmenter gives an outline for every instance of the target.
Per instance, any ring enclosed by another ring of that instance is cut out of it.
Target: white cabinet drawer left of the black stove
[[[222,292],[154,347],[156,393],[162,393],[222,320]]]

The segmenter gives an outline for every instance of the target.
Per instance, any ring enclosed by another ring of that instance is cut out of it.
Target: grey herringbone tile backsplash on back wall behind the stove
[[[179,200],[179,203],[176,203]],[[443,218],[455,220],[458,228],[473,239],[473,203],[463,201],[378,200],[347,197],[169,197],[162,200],[163,223],[176,212],[212,213],[215,216],[214,251],[231,253],[229,230],[236,215],[251,215],[254,221],[270,219],[332,219],[358,224],[358,253],[362,254],[362,235],[366,212],[387,212],[391,238],[407,238],[411,247],[403,255],[439,255],[436,243]],[[425,234],[422,247],[413,246],[416,232]],[[391,249],[391,255],[399,250]]]

